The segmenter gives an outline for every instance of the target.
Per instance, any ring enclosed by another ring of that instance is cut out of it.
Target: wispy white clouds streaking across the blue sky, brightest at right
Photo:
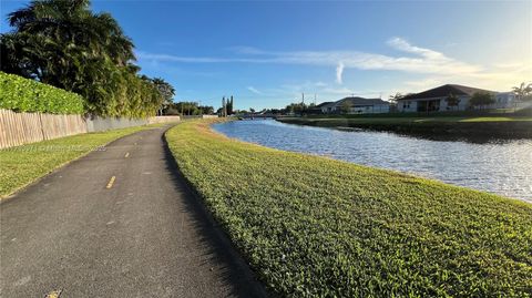
[[[532,65],[514,61],[494,61],[489,65],[477,65],[444,53],[411,44],[402,38],[392,38],[387,44],[395,49],[396,54],[380,54],[360,51],[266,51],[249,47],[231,48],[228,56],[181,56],[172,54],[153,54],[136,52],[140,60],[146,63],[175,62],[175,63],[270,63],[326,66],[336,70],[336,83],[344,84],[344,71],[382,70],[400,71],[419,78],[405,79],[395,82],[396,85],[383,88],[385,94],[395,92],[419,92],[444,83],[459,83],[490,90],[510,90],[511,86],[526,81],[532,75]],[[163,65],[163,63],[161,63]],[[369,86],[372,88],[372,86]],[[258,91],[253,86],[247,88],[255,94],[263,96],[300,96],[301,92],[318,93],[324,96],[350,94],[349,86],[332,88],[324,82],[309,82],[282,85],[278,89]],[[258,92],[258,93],[257,93]],[[380,92],[377,92],[380,93]],[[288,95],[289,94],[289,95]],[[299,94],[299,95],[298,95]]]

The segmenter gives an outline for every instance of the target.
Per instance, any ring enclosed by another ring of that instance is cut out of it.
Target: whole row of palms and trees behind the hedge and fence
[[[0,70],[83,96],[103,116],[151,116],[175,94],[163,79],[140,74],[133,41],[89,0],[34,0],[8,14],[0,35]]]

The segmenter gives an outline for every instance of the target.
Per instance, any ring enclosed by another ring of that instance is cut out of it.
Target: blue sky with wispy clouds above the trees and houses
[[[7,13],[28,1],[1,0]],[[175,101],[283,107],[532,81],[532,1],[92,1]]]

